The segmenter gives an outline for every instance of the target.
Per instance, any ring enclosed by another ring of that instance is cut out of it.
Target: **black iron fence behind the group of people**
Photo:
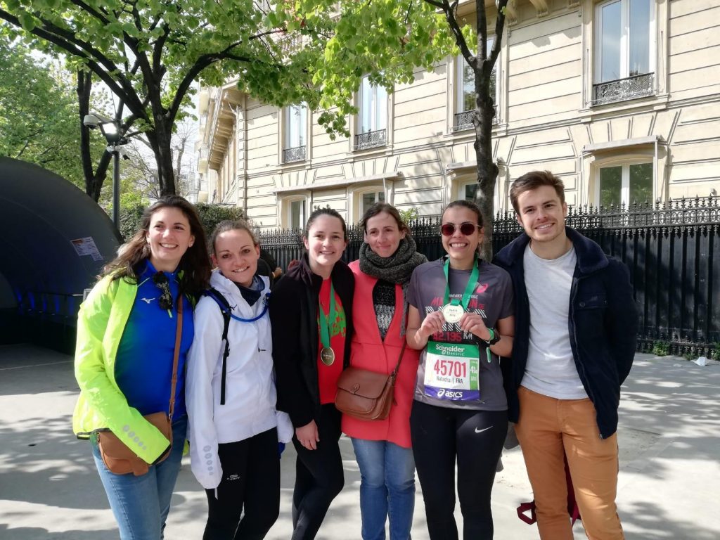
[[[430,260],[444,253],[438,225],[437,218],[410,223],[418,251]],[[720,351],[720,197],[573,208],[567,225],[629,267],[640,313],[639,351],[659,347],[693,356]],[[498,215],[493,251],[520,232],[514,212]],[[348,236],[343,259],[353,261],[362,231],[351,227]],[[262,233],[261,243],[283,269],[303,251],[300,230]]]

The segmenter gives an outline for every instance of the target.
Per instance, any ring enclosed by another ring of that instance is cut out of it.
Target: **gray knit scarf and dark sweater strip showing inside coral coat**
[[[402,285],[402,320],[400,336],[405,336],[405,321],[408,320],[408,285],[415,266],[428,262],[428,258],[418,253],[415,240],[405,236],[400,240],[397,250],[390,257],[381,257],[363,242],[360,246],[360,271],[386,282]]]

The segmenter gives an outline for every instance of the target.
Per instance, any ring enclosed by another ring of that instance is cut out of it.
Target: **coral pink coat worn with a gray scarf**
[[[395,285],[395,313],[392,315],[385,341],[382,341],[372,304],[372,289],[377,283],[377,278],[361,272],[359,261],[354,261],[349,266],[355,274],[353,297],[355,331],[350,348],[350,365],[390,374],[395,369],[402,342],[405,341],[405,336],[400,337],[402,287]],[[410,347],[405,348],[395,379],[395,400],[390,408],[390,416],[385,420],[359,420],[343,415],[343,433],[369,441],[390,441],[398,446],[410,448],[410,408],[413,405],[419,356],[420,351]]]

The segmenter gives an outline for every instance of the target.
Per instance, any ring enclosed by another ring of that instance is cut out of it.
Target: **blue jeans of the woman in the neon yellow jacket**
[[[161,540],[170,511],[175,480],[180,471],[187,416],[173,422],[173,447],[160,464],[150,465],[142,476],[114,474],[100,457],[96,438],[91,439],[92,455],[112,508],[121,540]]]

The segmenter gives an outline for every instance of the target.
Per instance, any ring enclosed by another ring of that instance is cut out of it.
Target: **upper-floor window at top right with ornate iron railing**
[[[654,0],[611,0],[595,8],[593,104],[654,93]]]

